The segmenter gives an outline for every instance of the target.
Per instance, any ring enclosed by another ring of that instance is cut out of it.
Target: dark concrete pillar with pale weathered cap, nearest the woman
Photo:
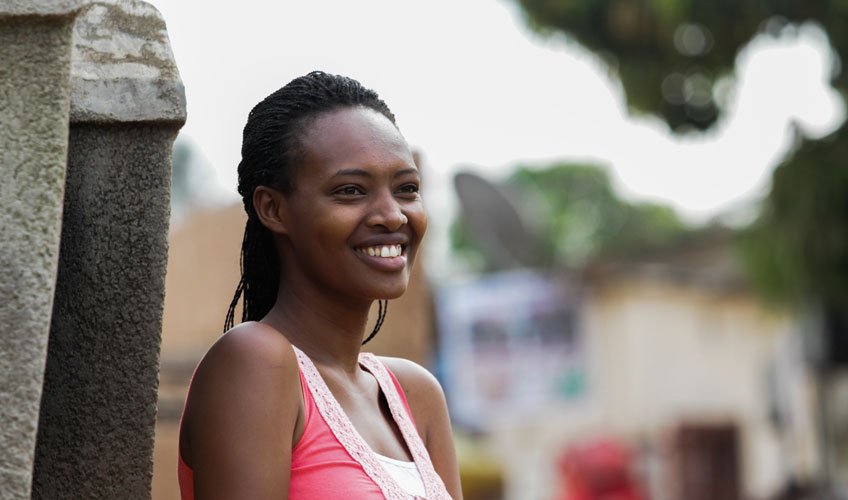
[[[71,127],[33,498],[149,498],[171,148],[185,97],[135,0],[77,16]]]

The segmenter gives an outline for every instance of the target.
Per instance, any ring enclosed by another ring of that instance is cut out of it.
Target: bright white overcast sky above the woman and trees
[[[435,258],[446,250],[458,169],[497,179],[518,163],[592,162],[609,169],[621,195],[704,221],[764,192],[790,146],[790,123],[821,136],[844,116],[827,84],[826,36],[813,26],[756,39],[725,86],[720,125],[681,138],[658,119],[629,116],[601,63],[565,38],[530,32],[505,1],[151,3],[186,87],[181,134],[214,168],[216,198],[236,200],[241,129],[254,104],[314,69],[348,75],[380,93],[424,155]]]

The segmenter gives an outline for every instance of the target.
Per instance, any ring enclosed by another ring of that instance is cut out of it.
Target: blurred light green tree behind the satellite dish
[[[606,172],[586,165],[546,169],[519,167],[503,186],[517,200],[522,219],[533,225],[536,265],[579,268],[592,259],[649,251],[677,243],[694,230],[669,207],[619,199]],[[498,265],[482,251],[460,216],[451,229],[455,252],[479,270]]]

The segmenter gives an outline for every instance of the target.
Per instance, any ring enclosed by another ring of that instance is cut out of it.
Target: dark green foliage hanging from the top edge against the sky
[[[631,108],[676,130],[706,129],[720,112],[714,85],[758,33],[815,21],[848,53],[844,0],[515,0],[543,34],[566,33],[607,61]],[[846,88],[844,73],[833,83]]]

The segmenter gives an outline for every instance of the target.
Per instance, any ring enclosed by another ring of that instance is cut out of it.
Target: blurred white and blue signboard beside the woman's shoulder
[[[439,289],[439,372],[460,425],[485,430],[586,393],[576,288],[535,271]]]

